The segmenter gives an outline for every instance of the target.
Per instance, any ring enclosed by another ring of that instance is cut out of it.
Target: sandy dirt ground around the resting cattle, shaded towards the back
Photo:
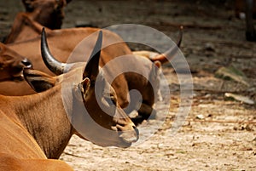
[[[0,37],[8,34],[16,0],[0,3]],[[212,3],[211,3],[212,2]],[[73,0],[63,27],[132,23],[151,26],[176,40],[193,74],[193,104],[183,127],[172,134],[179,104],[177,76],[163,66],[172,92],[165,123],[145,142],[127,149],[101,147],[73,136],[61,160],[75,170],[255,170],[256,105],[225,98],[225,93],[256,101],[256,43],[245,40],[245,21],[235,17],[232,1]],[[141,49],[139,46],[131,46]],[[143,47],[144,48],[144,47]],[[250,86],[214,77],[221,66],[236,66]],[[149,121],[149,123],[154,121]]]

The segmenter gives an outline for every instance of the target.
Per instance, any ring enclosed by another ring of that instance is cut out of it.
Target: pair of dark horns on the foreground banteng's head
[[[85,70],[87,67],[91,66],[89,63],[93,63],[98,66],[101,49],[102,49],[102,31],[99,31],[99,35],[97,37],[95,47],[93,48],[92,53],[90,54],[89,62],[85,66]],[[56,60],[55,57],[50,53],[44,28],[42,30],[42,36],[41,36],[41,55],[44,60],[44,64],[49,68],[50,71],[54,72],[56,75],[61,75],[62,73],[64,73],[65,67],[67,67],[68,64],[62,63]],[[90,71],[90,72],[93,72],[93,71]],[[96,73],[88,73],[88,74],[96,74]]]

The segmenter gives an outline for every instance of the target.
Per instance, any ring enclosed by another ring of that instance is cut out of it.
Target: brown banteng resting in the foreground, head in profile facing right
[[[1,170],[69,170],[63,162],[46,159],[60,157],[73,134],[102,146],[128,147],[137,141],[134,123],[119,107],[113,88],[99,69],[100,45],[101,33],[85,69],[84,63],[75,63],[58,77],[26,69],[27,82],[44,92],[0,96]],[[99,92],[95,92],[96,77],[102,85]],[[71,92],[65,96],[66,101],[63,89]],[[85,107],[88,113],[78,106]]]

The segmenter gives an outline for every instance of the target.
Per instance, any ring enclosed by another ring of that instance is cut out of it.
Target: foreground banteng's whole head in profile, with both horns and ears
[[[27,82],[30,83],[32,88],[36,91],[51,88],[59,83],[61,83],[62,87],[65,83],[75,84],[72,87],[73,95],[70,99],[73,99],[71,103],[75,103],[76,105],[69,104],[72,105],[70,108],[72,108],[71,111],[73,111],[73,116],[69,117],[72,117],[72,120],[77,120],[76,122],[78,124],[89,124],[89,126],[87,127],[86,135],[84,135],[77,130],[74,124],[74,133],[85,140],[92,141],[96,145],[127,147],[130,146],[132,142],[137,141],[138,131],[134,123],[131,122],[131,119],[126,116],[125,111],[119,106],[114,89],[106,81],[103,71],[99,68],[101,46],[102,31],[99,33],[96,46],[90,55],[90,60],[87,62],[85,69],[83,69],[84,67],[82,67],[83,65],[81,66],[81,63],[73,63],[67,73],[61,74],[67,64],[55,60],[54,56],[50,54],[43,31],[41,50],[44,62],[51,71],[61,75],[58,77],[50,77],[42,74],[42,72],[30,70],[26,70],[24,74]],[[81,73],[79,77],[82,77],[82,81],[74,83],[73,77],[77,77],[78,73]],[[98,82],[101,85],[97,90],[96,80],[99,80]],[[70,101],[70,99],[68,101]],[[87,123],[86,121],[79,123],[79,120],[84,119],[83,113],[80,113],[81,111],[79,110],[81,106],[82,108],[85,107],[86,111],[88,111],[90,118],[93,120],[93,124]],[[109,134],[105,134],[102,130],[108,130],[106,133],[108,132]]]

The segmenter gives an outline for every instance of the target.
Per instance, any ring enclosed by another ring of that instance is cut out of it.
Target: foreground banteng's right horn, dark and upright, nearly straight
[[[90,78],[90,80],[95,81],[99,73],[99,61],[102,49],[102,31],[99,32],[98,38],[96,40],[95,47],[90,54],[90,58],[85,66],[83,79],[85,77]]]

